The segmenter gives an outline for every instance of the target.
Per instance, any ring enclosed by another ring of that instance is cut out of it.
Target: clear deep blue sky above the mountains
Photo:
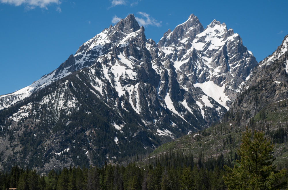
[[[146,38],[158,42],[169,28],[196,15],[233,28],[257,61],[288,34],[288,1],[0,0],[0,94],[32,84],[110,24],[133,13]]]

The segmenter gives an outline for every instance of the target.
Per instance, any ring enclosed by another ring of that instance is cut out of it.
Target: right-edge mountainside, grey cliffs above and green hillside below
[[[241,144],[242,132],[248,127],[252,131],[264,131],[265,136],[274,144],[275,165],[278,169],[284,168],[288,155],[287,58],[288,35],[272,55],[253,69],[219,123],[162,144],[149,157],[180,149],[184,155],[191,154],[199,159],[200,163],[224,155],[224,160],[233,166],[231,162],[239,160],[237,149]]]

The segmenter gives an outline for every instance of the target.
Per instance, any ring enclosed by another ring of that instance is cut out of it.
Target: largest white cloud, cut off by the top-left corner
[[[60,0],[0,0],[1,3],[8,3],[15,6],[26,5],[30,9],[35,7],[46,8],[52,3],[60,4]],[[58,10],[57,10],[58,11]]]

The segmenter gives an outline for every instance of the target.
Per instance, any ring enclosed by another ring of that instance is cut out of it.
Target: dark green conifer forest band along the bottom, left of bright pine
[[[222,157],[219,157],[221,160]],[[39,175],[36,170],[12,167],[10,173],[0,174],[3,189],[16,184],[20,190],[172,190],[172,189],[223,189],[221,165],[216,160],[203,162],[203,167],[194,163],[191,156],[170,152],[147,160],[147,164],[129,163],[127,166],[105,164],[101,168],[70,167],[51,170]],[[215,168],[208,170],[209,168]],[[12,182],[13,181],[13,182]]]

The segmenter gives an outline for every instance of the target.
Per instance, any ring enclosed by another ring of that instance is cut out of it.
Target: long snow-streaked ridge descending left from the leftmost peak
[[[133,20],[131,23],[134,25],[131,26],[129,30],[126,30],[126,28],[123,28],[126,24],[125,20],[129,22],[130,19]],[[136,31],[140,29],[134,16],[129,15],[125,20],[121,24],[118,23],[115,26],[110,26],[108,29],[106,28],[100,34],[97,34],[94,38],[84,43],[79,47],[74,56],[70,55],[70,57],[57,69],[47,75],[44,75],[30,86],[22,88],[21,90],[18,90],[12,94],[0,96],[0,110],[7,108],[26,97],[29,97],[34,91],[48,86],[56,80],[59,80],[84,67],[93,65],[95,59],[107,53],[111,47],[119,45],[122,47],[125,46],[125,44],[127,44],[126,41],[133,37],[133,35],[137,35]],[[140,30],[138,32],[140,32]]]

